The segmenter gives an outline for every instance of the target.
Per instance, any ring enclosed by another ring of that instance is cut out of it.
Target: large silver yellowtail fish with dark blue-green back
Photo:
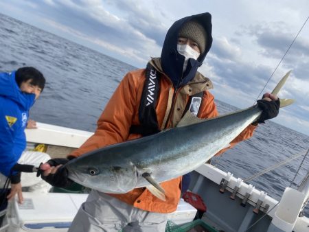
[[[273,94],[288,78],[277,84]],[[293,100],[280,100],[281,106]],[[83,154],[65,165],[69,178],[80,185],[111,194],[147,187],[165,199],[159,183],[187,174],[202,165],[247,128],[262,111],[252,106],[212,119],[186,113],[176,128]]]

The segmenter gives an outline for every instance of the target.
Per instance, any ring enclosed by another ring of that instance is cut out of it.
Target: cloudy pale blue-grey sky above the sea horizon
[[[184,16],[210,12],[214,43],[199,69],[218,100],[251,106],[309,16],[308,0],[1,0],[0,12],[138,68],[160,56]],[[273,121],[309,135],[309,22],[263,92],[293,69],[279,97],[294,98]]]

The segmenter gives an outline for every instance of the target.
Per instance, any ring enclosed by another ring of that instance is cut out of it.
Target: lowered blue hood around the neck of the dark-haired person
[[[16,102],[25,111],[29,111],[36,97],[32,93],[23,93],[19,89],[15,81],[15,71],[12,71],[12,73],[0,73],[0,96]]]

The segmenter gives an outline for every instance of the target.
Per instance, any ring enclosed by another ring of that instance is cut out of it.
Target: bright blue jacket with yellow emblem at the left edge
[[[5,176],[25,150],[25,127],[34,99],[34,94],[21,92],[15,72],[0,73],[0,172]]]

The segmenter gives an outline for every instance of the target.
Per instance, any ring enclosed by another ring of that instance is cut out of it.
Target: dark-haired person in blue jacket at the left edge
[[[25,128],[29,110],[44,86],[43,74],[34,67],[22,67],[11,73],[0,73],[0,189],[10,178],[11,191],[8,200],[17,194],[19,202],[23,201],[21,173],[12,172],[12,167],[19,163],[26,148]],[[32,152],[28,157],[23,157],[23,161],[38,159],[31,157],[33,154]],[[43,156],[40,158],[49,158],[47,154]]]

